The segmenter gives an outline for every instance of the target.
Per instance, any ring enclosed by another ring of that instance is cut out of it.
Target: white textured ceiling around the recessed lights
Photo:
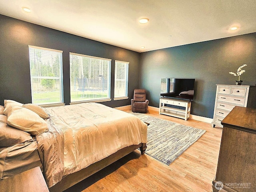
[[[256,32],[256,0],[0,0],[0,14],[136,52]]]

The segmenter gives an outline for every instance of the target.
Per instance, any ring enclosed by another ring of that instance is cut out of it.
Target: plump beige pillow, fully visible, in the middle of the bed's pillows
[[[48,130],[46,121],[35,112],[19,106],[11,106],[9,110],[8,125],[26,131],[31,135],[38,135]]]

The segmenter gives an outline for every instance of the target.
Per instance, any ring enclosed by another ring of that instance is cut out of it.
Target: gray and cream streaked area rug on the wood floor
[[[196,142],[206,130],[197,129],[141,113],[133,113],[148,126],[146,154],[170,165],[187,148]]]

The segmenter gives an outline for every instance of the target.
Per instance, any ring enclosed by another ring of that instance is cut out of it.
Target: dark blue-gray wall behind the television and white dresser
[[[159,107],[161,78],[195,78],[191,114],[213,118],[216,84],[234,85],[229,74],[243,64],[244,85],[256,84],[256,33],[165,48],[141,54],[140,88]]]

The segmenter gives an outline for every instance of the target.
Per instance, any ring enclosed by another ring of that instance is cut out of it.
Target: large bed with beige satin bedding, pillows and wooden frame
[[[0,178],[40,166],[50,191],[63,191],[137,148],[144,154],[146,141],[146,123],[102,104],[43,109],[5,100]]]

